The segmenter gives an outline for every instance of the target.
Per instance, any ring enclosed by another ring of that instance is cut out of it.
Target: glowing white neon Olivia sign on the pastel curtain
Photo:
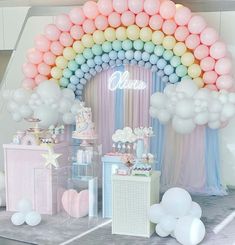
[[[128,71],[115,71],[109,79],[108,88],[111,91],[117,89],[129,90],[144,90],[147,87],[146,82],[141,80],[130,80],[130,73]]]

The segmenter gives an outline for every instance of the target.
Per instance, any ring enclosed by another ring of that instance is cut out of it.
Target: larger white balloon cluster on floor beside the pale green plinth
[[[149,210],[150,221],[157,224],[157,235],[171,235],[183,245],[196,245],[203,240],[205,226],[201,216],[201,207],[181,188],[166,191],[161,203],[152,205]]]

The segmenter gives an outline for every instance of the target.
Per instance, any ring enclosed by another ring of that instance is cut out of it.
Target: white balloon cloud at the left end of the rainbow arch
[[[53,81],[42,82],[36,90],[4,91],[3,97],[8,101],[8,111],[16,122],[34,117],[41,120],[39,124],[43,128],[73,124],[81,109],[81,102],[75,99],[73,91],[61,90]]]

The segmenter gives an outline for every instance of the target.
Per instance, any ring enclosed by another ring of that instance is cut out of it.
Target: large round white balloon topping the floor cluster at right
[[[164,193],[161,204],[168,215],[179,218],[189,212],[192,198],[186,190],[175,187]]]

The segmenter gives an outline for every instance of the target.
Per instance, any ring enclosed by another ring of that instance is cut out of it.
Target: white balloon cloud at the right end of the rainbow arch
[[[235,115],[235,93],[198,89],[192,80],[166,86],[163,93],[151,96],[150,115],[181,134],[191,133],[196,125],[218,129]]]

